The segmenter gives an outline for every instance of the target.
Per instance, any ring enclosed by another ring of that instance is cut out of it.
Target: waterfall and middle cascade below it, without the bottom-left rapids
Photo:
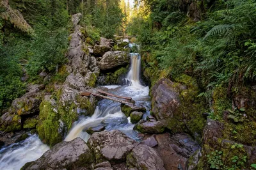
[[[138,45],[130,43],[129,47],[138,48]],[[104,87],[108,88],[109,93],[132,97],[132,99],[136,101],[136,104],[143,104],[145,107],[150,107],[148,87],[141,86],[140,84],[140,54],[130,53],[130,56],[131,69],[125,79],[125,84],[129,84],[129,86]],[[97,125],[104,125],[106,130],[121,130],[129,137],[136,139],[137,134],[132,130],[134,125],[132,125],[132,123],[127,120],[125,115],[121,112],[120,104],[104,99],[99,102],[92,117],[81,118],[77,123],[74,123],[65,141],[71,141],[76,137],[81,137],[84,141],[87,141],[90,135],[85,132],[86,128],[96,127]]]

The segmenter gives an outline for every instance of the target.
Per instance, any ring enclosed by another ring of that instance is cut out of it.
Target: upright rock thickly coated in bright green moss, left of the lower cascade
[[[40,104],[39,123],[36,128],[40,139],[50,146],[62,141],[61,134],[58,131],[60,127],[59,120],[60,114],[56,112],[51,102],[43,101]]]

